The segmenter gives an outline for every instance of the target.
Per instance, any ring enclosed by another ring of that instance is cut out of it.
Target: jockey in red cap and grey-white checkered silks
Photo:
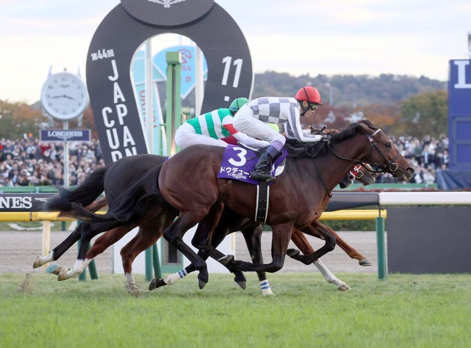
[[[245,104],[234,116],[234,127],[250,136],[266,140],[270,146],[260,156],[250,177],[271,181],[273,158],[284,145],[285,137],[266,123],[284,123],[286,136],[299,142],[329,141],[329,135],[313,135],[311,129],[302,129],[300,116],[310,116],[322,105],[319,91],[311,86],[301,88],[295,98],[263,97]]]

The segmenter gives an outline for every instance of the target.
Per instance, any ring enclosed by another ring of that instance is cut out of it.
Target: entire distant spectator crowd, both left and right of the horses
[[[448,167],[448,138],[429,135],[391,137],[401,154],[416,169],[409,182],[436,182],[436,170]],[[70,143],[70,185],[80,184],[88,173],[104,166],[98,141]],[[396,182],[381,175],[378,182]],[[64,185],[64,143],[40,143],[38,138],[0,140],[0,186]]]

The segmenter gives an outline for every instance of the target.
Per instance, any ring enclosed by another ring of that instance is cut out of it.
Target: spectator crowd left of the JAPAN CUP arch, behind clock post
[[[69,144],[69,184],[80,184],[103,167],[98,141]],[[0,139],[0,186],[64,185],[64,143],[40,143],[25,136]]]

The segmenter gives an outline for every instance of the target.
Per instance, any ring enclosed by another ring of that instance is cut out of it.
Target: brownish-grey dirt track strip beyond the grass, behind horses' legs
[[[51,248],[62,242],[68,232],[52,232]],[[376,271],[376,235],[374,232],[339,232],[339,235],[360,253],[373,262],[373,267],[361,267],[356,260],[350,259],[339,247],[322,257],[324,264],[333,272],[375,272]],[[323,242],[308,236],[309,242],[318,249]],[[250,261],[250,256],[242,234],[236,237],[237,258]],[[290,244],[290,248],[295,247]],[[271,233],[262,236],[262,251],[264,261],[271,260]],[[0,272],[28,272],[34,258],[41,253],[41,232],[0,232]],[[72,266],[77,257],[76,247],[71,248],[60,259],[61,265]],[[98,273],[111,272],[111,249],[106,250],[96,258]],[[283,272],[310,272],[315,267],[306,266],[296,260],[286,257]]]

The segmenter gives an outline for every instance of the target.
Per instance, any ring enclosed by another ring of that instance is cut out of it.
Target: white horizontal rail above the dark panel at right
[[[380,192],[381,205],[471,204],[471,192]]]

